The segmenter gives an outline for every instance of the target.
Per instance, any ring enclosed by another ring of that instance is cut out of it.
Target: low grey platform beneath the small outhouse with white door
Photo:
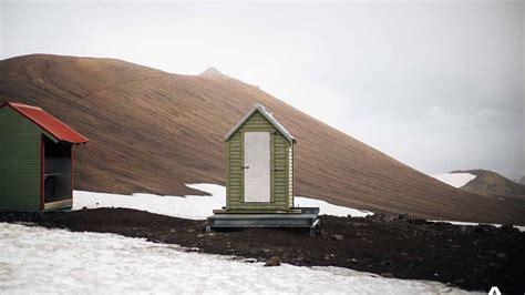
[[[208,217],[206,231],[213,228],[243,227],[300,227],[310,228],[310,235],[319,231],[319,208],[294,208],[298,213],[215,213]]]

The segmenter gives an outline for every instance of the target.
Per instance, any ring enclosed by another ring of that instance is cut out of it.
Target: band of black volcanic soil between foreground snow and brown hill
[[[73,232],[115,233],[199,252],[294,265],[340,266],[385,277],[439,281],[464,289],[525,291],[525,233],[511,225],[453,225],[378,214],[322,215],[321,233],[248,228],[205,232],[192,221],[126,208],[0,213],[0,222],[33,222]],[[274,258],[274,260],[271,260]]]

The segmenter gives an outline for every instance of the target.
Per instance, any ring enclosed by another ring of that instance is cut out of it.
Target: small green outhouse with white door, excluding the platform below
[[[257,103],[226,134],[226,211],[288,212],[294,207],[295,139]]]

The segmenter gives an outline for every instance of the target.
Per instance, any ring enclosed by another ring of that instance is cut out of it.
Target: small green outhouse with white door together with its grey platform
[[[226,206],[206,231],[231,227],[302,227],[319,232],[318,207],[294,206],[296,140],[259,103],[226,134]]]

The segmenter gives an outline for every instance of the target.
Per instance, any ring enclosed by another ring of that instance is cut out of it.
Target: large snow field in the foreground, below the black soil
[[[0,223],[0,236],[6,294],[467,294],[339,267],[264,267],[114,234]]]

